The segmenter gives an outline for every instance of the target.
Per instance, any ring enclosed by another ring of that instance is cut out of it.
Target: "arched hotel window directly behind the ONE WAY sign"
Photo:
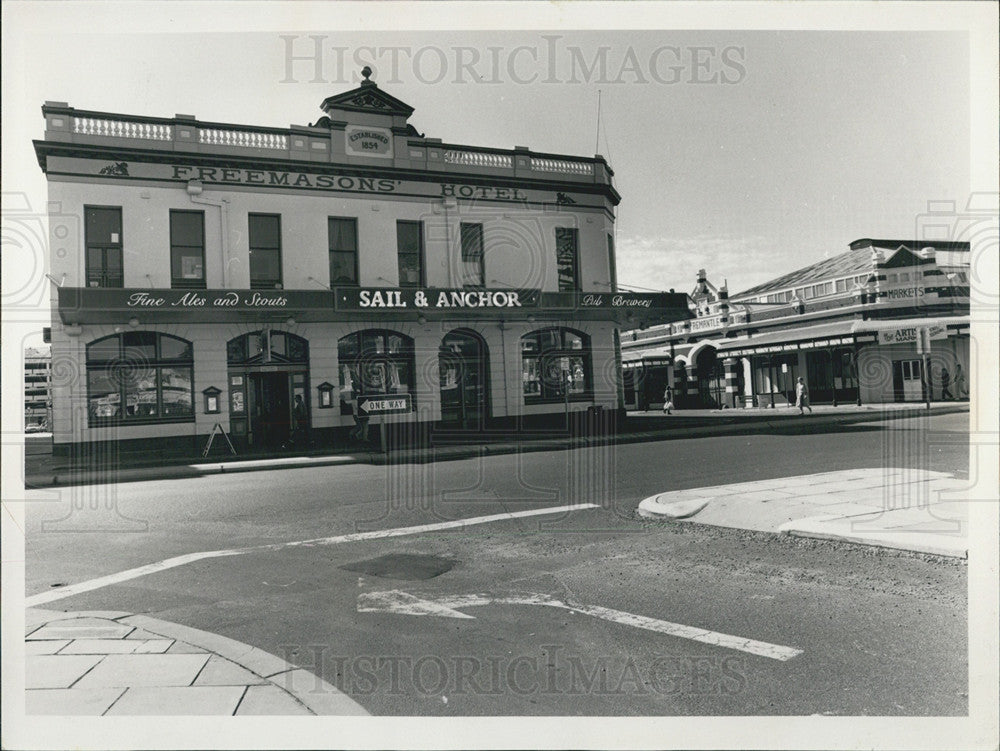
[[[394,331],[367,329],[337,342],[340,411],[353,414],[360,396],[414,392],[413,339]]]

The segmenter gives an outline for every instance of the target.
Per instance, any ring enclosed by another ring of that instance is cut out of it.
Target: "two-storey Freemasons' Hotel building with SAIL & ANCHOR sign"
[[[617,290],[604,159],[427,138],[365,73],[308,126],[42,107],[56,451],[621,408],[617,331],[688,313]]]

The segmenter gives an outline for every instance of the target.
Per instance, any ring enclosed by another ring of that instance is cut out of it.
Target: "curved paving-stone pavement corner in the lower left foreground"
[[[248,644],[116,611],[25,611],[30,715],[367,715]]]

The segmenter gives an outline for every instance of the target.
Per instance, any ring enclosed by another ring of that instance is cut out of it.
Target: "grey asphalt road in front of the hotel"
[[[149,612],[239,639],[315,670],[374,714],[962,714],[961,563],[633,512],[664,490],[853,467],[961,475],[967,449],[934,436],[966,430],[965,415],[944,415],[35,491],[27,591],[184,553],[594,503],[200,560],[47,607]],[[456,605],[469,595],[480,597]],[[414,601],[436,614],[385,612]],[[382,605],[359,612],[359,602]],[[648,619],[801,652],[772,659],[663,633]]]

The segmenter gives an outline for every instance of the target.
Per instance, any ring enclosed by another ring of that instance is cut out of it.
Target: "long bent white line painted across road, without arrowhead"
[[[403,537],[405,535],[418,535],[422,532],[439,532],[446,529],[461,529],[477,524],[489,524],[496,521],[508,521],[510,519],[523,519],[531,516],[543,516],[547,514],[561,514],[567,511],[581,511],[584,509],[600,508],[596,503],[573,503],[566,506],[554,506],[552,508],[528,509],[526,511],[508,511],[502,514],[490,514],[489,516],[473,516],[468,519],[455,519],[449,522],[435,522],[433,524],[420,524],[415,527],[397,527],[395,529],[377,529],[372,532],[354,532],[347,535],[337,535],[335,537],[318,537],[312,540],[294,540],[292,542],[279,542],[271,545],[254,545],[248,548],[233,548],[232,550],[209,550],[203,553],[189,553],[175,558],[167,558],[157,563],[150,563],[138,568],[130,568],[127,571],[120,571],[117,574],[101,576],[97,579],[90,579],[77,584],[70,584],[66,587],[59,587],[48,592],[40,592],[37,595],[24,598],[26,607],[38,607],[49,602],[62,600],[66,597],[91,592],[95,589],[110,587],[113,584],[121,584],[131,579],[138,579],[141,576],[155,574],[166,571],[188,563],[204,560],[206,558],[224,558],[226,556],[244,555],[246,553],[260,553],[282,548],[293,548],[311,545],[339,545],[344,542],[362,542],[364,540],[381,540],[387,537]]]

